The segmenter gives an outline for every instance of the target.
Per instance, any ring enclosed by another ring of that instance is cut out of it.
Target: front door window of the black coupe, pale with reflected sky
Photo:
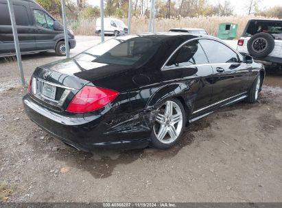
[[[215,40],[200,40],[211,64],[239,62],[237,53]]]

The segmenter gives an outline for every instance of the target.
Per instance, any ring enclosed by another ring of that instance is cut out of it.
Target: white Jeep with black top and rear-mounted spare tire
[[[256,62],[282,68],[282,20],[251,19],[237,42],[237,51]]]

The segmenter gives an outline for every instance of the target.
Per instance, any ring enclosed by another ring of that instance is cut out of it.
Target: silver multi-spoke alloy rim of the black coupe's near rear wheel
[[[154,124],[154,134],[163,144],[171,144],[180,135],[183,127],[183,114],[174,101],[166,101],[159,108]]]

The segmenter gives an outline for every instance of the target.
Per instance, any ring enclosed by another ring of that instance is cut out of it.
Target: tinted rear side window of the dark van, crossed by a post
[[[23,5],[13,5],[16,25],[30,25],[28,21],[27,9]],[[8,5],[0,3],[0,25],[11,25]]]

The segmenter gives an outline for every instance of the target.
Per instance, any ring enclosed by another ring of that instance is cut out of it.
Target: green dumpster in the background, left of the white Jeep
[[[237,29],[237,24],[220,23],[218,27],[218,38],[222,40],[233,40],[237,37]]]

